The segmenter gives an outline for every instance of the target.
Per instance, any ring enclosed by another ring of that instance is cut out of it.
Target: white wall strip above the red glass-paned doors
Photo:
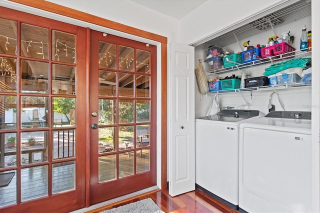
[[[47,0],[179,41],[179,21],[131,0]]]

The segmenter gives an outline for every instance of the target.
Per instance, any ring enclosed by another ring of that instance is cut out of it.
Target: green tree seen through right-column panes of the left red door
[[[53,98],[53,111],[56,113],[62,113],[65,115],[68,122],[70,122],[70,118],[68,114],[70,113],[70,109],[75,108],[75,98],[73,97],[54,97]]]

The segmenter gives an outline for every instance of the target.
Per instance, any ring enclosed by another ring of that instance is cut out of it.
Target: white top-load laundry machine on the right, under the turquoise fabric
[[[239,135],[240,210],[311,212],[311,112],[272,111]]]

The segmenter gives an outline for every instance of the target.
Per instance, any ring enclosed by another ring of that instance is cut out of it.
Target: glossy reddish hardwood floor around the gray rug
[[[213,199],[203,191],[196,189],[175,197],[171,197],[167,190],[155,190],[142,195],[138,195],[127,200],[105,205],[86,213],[98,213],[104,209],[111,209],[130,202],[135,202],[145,198],[151,198],[164,212],[189,213],[189,212],[215,212],[215,213],[237,213],[231,207]]]

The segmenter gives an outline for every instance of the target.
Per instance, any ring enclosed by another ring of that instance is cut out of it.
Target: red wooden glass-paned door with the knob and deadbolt
[[[156,47],[91,30],[90,204],[156,184]]]

